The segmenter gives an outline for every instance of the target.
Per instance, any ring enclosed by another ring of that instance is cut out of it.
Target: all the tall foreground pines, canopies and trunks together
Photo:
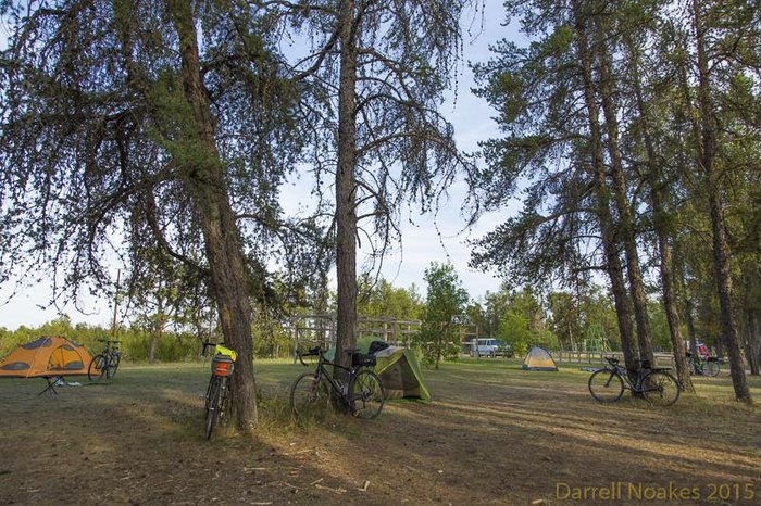
[[[531,43],[499,41],[475,64],[475,92],[504,134],[483,142],[482,163],[438,109],[463,18],[482,7],[0,2],[0,281],[103,295],[117,258],[129,304],[154,307],[157,329],[212,306],[225,341],[252,357],[253,320],[324,309],[335,266],[346,362],[358,244],[382,264],[402,204],[436,210],[463,178],[473,220],[524,203],[478,241],[474,266],[536,293],[578,294],[602,273],[633,370],[652,362],[657,291],[688,390],[681,317],[689,329],[716,315],[735,393],[750,402],[740,347],[758,370],[759,10],[507,1]],[[286,215],[283,184],[300,176],[314,208]],[[251,360],[232,399],[250,428]]]

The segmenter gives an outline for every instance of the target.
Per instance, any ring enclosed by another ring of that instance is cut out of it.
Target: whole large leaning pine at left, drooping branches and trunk
[[[234,0],[0,8],[0,278],[48,267],[74,298],[109,284],[113,256],[133,280],[157,254],[182,263],[241,357],[230,414],[251,427],[252,286],[279,251],[319,270],[289,248],[303,235],[278,233],[299,228],[277,195],[303,136],[265,17]]]

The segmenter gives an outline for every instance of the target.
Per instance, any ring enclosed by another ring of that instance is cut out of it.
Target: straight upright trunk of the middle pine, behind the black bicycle
[[[342,0],[338,96],[338,169],[336,170],[336,277],[338,315],[336,360],[349,365],[347,350],[357,343],[357,26],[354,0]],[[341,369],[335,374],[340,376]]]

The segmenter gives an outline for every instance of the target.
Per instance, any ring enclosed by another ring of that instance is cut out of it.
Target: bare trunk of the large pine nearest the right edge
[[[713,232],[713,269],[719,291],[722,339],[729,357],[729,371],[735,396],[738,401],[752,403],[745,366],[740,355],[737,328],[734,321],[732,301],[732,273],[729,268],[729,244],[724,224],[724,202],[722,198],[719,169],[715,166],[716,129],[713,118],[711,84],[708,54],[706,52],[706,26],[702,18],[700,0],[693,0],[695,16],[695,36],[698,52],[698,103],[700,115],[701,150],[699,163],[704,174],[704,189],[708,192],[711,208],[711,230]]]

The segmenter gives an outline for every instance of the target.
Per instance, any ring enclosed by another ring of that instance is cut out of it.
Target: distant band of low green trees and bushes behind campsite
[[[463,289],[451,264],[432,263],[424,276],[425,296],[414,283],[399,288],[384,278],[361,277],[358,314],[420,320],[420,331],[402,344],[415,349],[426,365],[438,367],[441,359],[459,359],[476,337],[499,339],[517,357],[524,356],[531,345],[548,350],[621,350],[615,311],[600,286],[583,294],[566,291],[538,294],[531,289],[510,289],[503,284],[474,299]],[[654,301],[650,306],[653,345],[658,351],[670,352],[665,312]],[[329,293],[326,311],[336,312],[335,291]],[[291,307],[287,315],[254,311],[251,325],[254,358],[292,357],[296,343],[288,317],[311,312],[310,306]],[[699,329],[709,346],[720,342],[708,328]],[[222,338],[209,307],[195,314],[177,314],[147,306],[134,308],[128,319],[116,328],[73,324],[65,315],[38,327],[21,326],[13,331],[0,328],[0,357],[20,344],[49,336],[85,344],[93,355],[102,347],[99,339],[117,339],[125,359],[148,363],[197,360],[202,357],[203,342],[217,342]]]

